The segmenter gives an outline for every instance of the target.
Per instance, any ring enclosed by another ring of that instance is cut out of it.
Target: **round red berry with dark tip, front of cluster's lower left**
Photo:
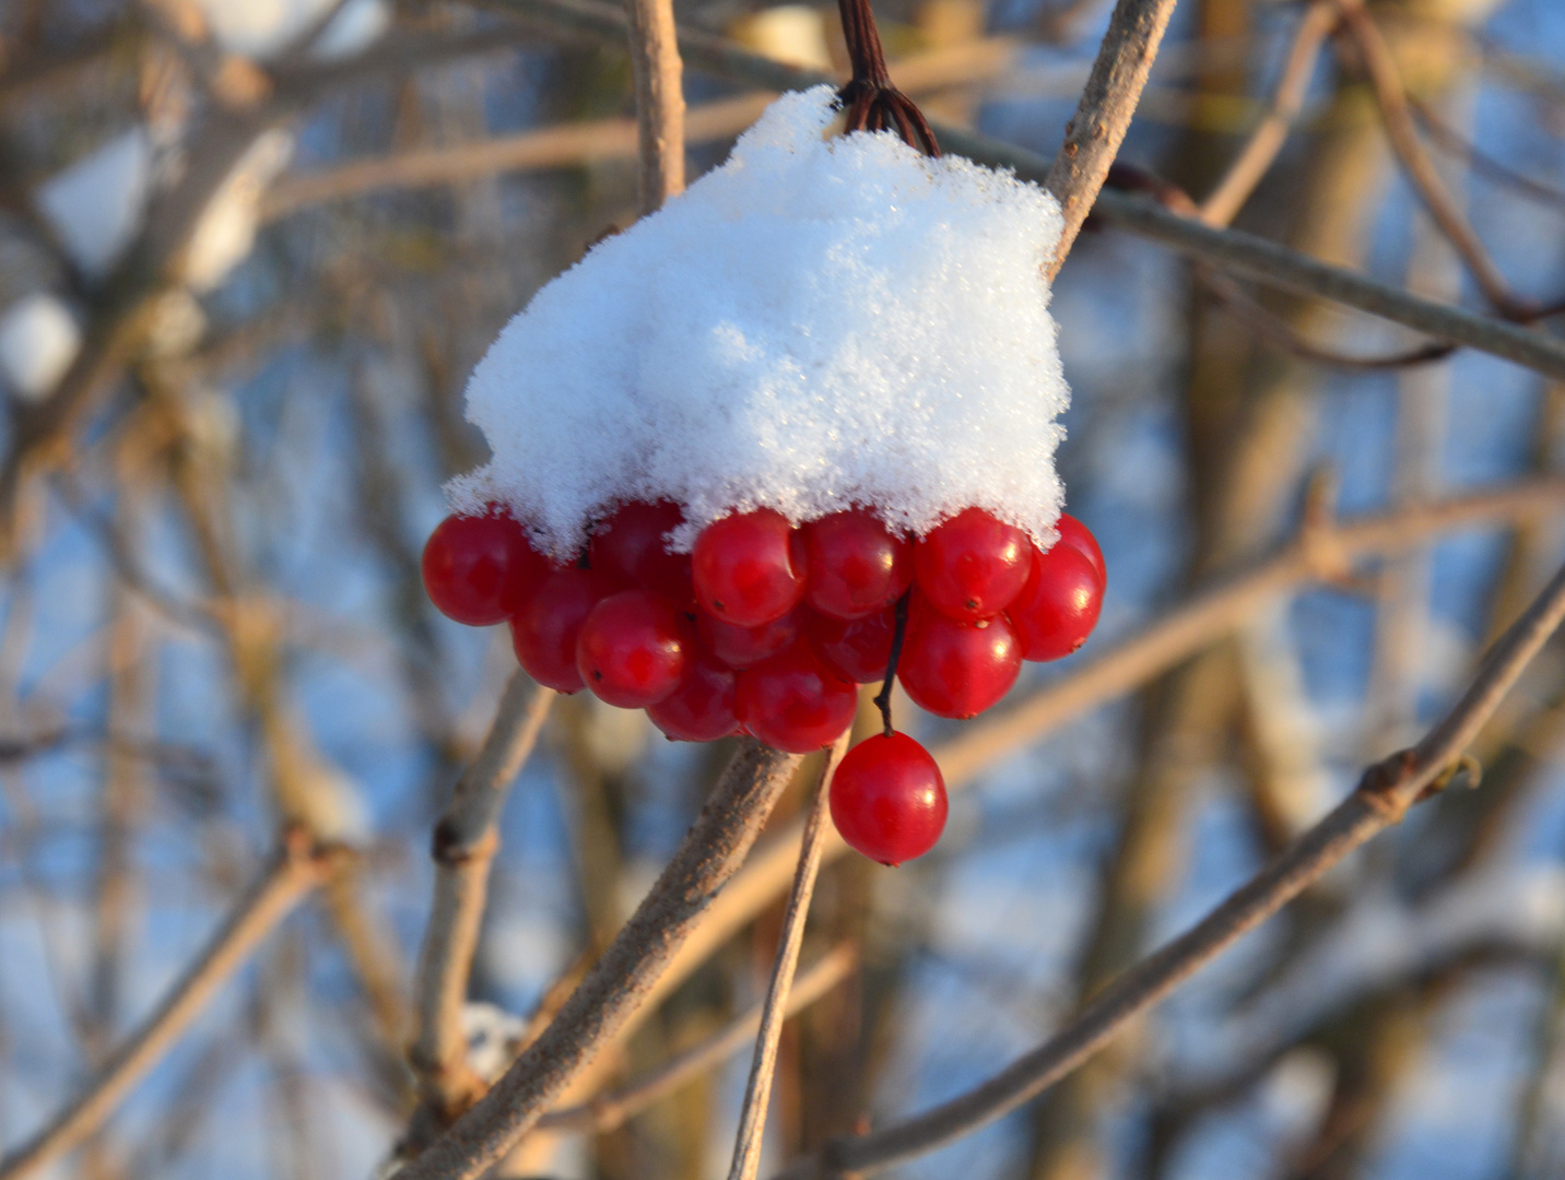
[[[576,637],[576,670],[598,700],[645,709],[679,687],[693,635],[673,604],[646,590],[601,599]]]

